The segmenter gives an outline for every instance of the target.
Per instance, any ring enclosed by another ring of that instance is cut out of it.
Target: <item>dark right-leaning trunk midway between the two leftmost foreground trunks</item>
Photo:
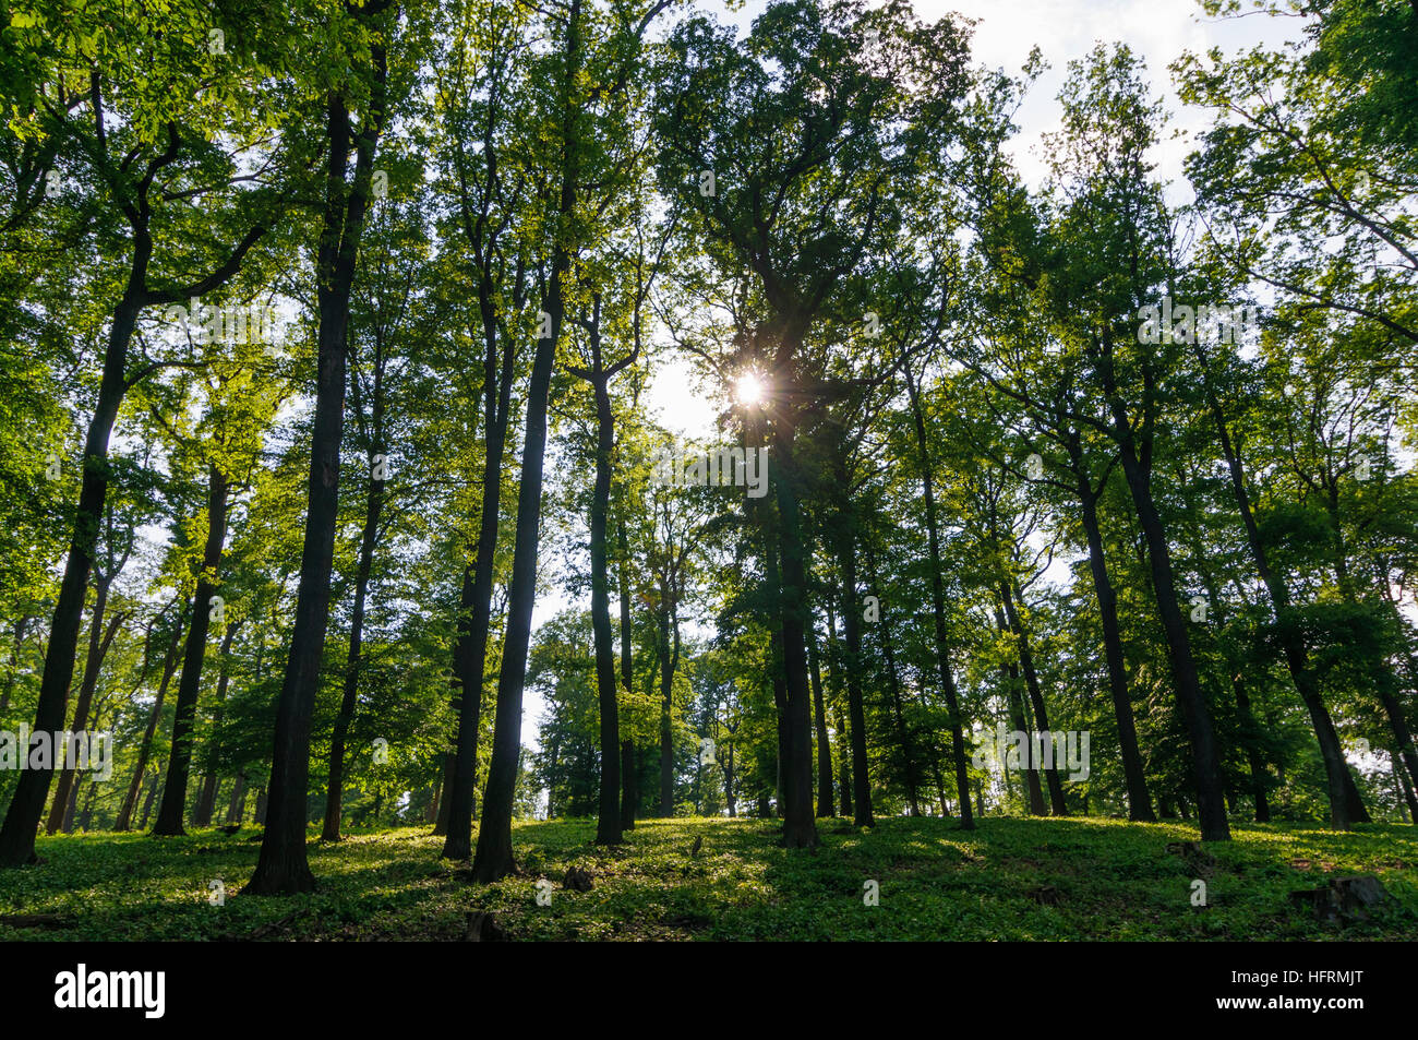
[[[196,729],[197,697],[201,692],[201,665],[207,654],[207,631],[211,626],[211,599],[217,592],[217,568],[221,566],[221,546],[227,539],[227,475],[213,465],[207,472],[207,543],[201,553],[201,573],[193,596],[191,624],[187,626],[187,648],[183,654],[182,678],[177,680],[177,707],[173,714],[173,743],[167,756],[167,785],[157,809],[153,834],[184,834],[187,813],[187,775],[191,769],[191,741]]]

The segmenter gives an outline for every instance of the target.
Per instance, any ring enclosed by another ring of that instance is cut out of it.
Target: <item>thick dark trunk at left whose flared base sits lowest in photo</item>
[[[369,206],[374,148],[384,126],[387,58],[384,44],[370,45],[374,77],[364,119],[354,140],[353,183],[346,182],[350,114],[340,92],[328,102],[325,217],[316,255],[319,329],[315,420],[311,434],[309,505],[301,583],[291,631],[291,653],[277,702],[275,746],[267,787],[267,824],[255,873],[242,892],[294,895],[315,890],[305,854],[306,797],[311,772],[311,715],[320,685],[329,624],[330,569],[339,522],[340,434],[345,427],[346,329],[359,238]]]

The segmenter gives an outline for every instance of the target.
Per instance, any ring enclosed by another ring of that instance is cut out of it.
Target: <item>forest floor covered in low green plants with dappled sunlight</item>
[[[788,851],[769,820],[645,820],[624,846],[597,848],[594,822],[529,820],[513,827],[522,875],[488,887],[465,881],[467,864],[440,860],[428,827],[356,831],[312,840],[318,892],[275,900],[235,895],[257,861],[250,829],[48,837],[41,864],[0,871],[0,941],[461,939],[479,909],[513,941],[1418,938],[1418,829],[1408,826],[1232,824],[1234,840],[1200,857],[1173,844],[1195,837],[1181,823],[818,829],[821,848]],[[571,867],[591,874],[590,891],[563,887]],[[1289,892],[1353,874],[1377,875],[1394,902],[1349,924],[1290,905]],[[1193,905],[1195,880],[1205,907]],[[869,881],[876,905],[864,898]],[[6,915],[43,919],[13,926]]]

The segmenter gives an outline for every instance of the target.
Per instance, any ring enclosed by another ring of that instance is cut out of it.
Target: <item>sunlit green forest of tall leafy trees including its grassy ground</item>
[[[927,6],[0,3],[0,938],[1418,934],[1418,1]]]

